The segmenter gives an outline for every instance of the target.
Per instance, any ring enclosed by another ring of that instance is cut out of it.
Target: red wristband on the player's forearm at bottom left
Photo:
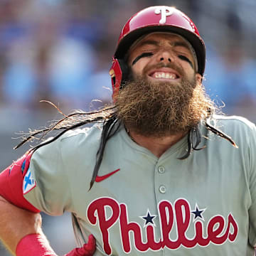
[[[57,256],[43,235],[26,235],[18,242],[17,256]]]

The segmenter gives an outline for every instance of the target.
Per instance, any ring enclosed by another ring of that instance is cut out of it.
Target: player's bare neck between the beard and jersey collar
[[[169,134],[164,137],[146,137],[144,135],[137,134],[132,130],[128,132],[129,136],[134,140],[134,142],[140,146],[144,146],[146,149],[149,149],[149,151],[151,151],[158,158],[164,154],[167,149],[182,139],[186,133],[187,132]]]

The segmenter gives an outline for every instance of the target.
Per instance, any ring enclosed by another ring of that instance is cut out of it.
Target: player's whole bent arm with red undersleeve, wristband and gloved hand
[[[41,230],[39,210],[23,197],[30,159],[31,154],[25,154],[0,174],[0,238],[13,255],[55,256]],[[95,239],[90,236],[84,247],[67,256],[90,256],[94,251]]]

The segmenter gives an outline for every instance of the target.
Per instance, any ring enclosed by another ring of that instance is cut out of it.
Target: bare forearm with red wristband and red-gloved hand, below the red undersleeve
[[[41,229],[41,215],[14,206],[0,196],[0,238],[13,255],[56,256]],[[75,248],[65,256],[90,256],[95,251],[95,239]]]

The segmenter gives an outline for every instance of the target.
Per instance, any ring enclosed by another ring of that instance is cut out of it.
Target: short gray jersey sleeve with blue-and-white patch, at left
[[[23,195],[37,209],[62,215],[71,203],[70,187],[61,155],[61,139],[37,149],[30,161]],[[72,170],[70,170],[72,171]]]

